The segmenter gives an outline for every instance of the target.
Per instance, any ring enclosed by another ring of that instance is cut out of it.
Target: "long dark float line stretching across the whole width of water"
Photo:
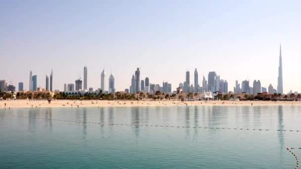
[[[255,128],[228,128],[228,127],[190,127],[190,126],[163,126],[163,125],[133,125],[133,124],[114,124],[114,123],[94,123],[94,122],[82,122],[82,121],[70,121],[70,120],[60,120],[60,119],[46,119],[46,118],[31,118],[28,116],[10,116],[10,115],[0,115],[8,117],[21,117],[29,119],[40,119],[40,120],[50,120],[50,121],[60,121],[60,122],[75,122],[75,123],[86,123],[86,124],[97,124],[100,126],[140,126],[140,127],[182,127],[182,128],[205,128],[205,129],[234,129],[234,130],[257,130],[257,131],[270,131],[269,129],[255,129]],[[301,130],[277,130],[277,131],[296,131],[301,132]],[[300,148],[301,149],[301,148]]]

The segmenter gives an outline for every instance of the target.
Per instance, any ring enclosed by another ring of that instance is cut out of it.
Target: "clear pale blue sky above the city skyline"
[[[176,88],[194,69],[216,71],[233,90],[235,80],[259,79],[277,87],[282,43],[284,92],[301,92],[300,0],[1,0],[0,79],[24,82],[29,71],[45,87],[83,78],[100,87],[112,71],[117,90],[132,74]],[[107,82],[108,83],[108,82]]]

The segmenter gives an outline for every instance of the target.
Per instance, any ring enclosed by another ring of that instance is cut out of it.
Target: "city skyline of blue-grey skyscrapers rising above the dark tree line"
[[[78,80],[75,81],[75,90],[76,91],[79,91],[79,90],[88,91],[88,87],[87,87],[87,76],[88,76],[87,69],[88,69],[87,66],[84,66],[84,88],[82,88],[82,81],[79,78]],[[46,91],[52,91],[52,76],[53,76],[53,70],[51,69],[50,79],[49,79],[49,76],[46,75],[46,87],[45,87]],[[100,78],[101,78],[100,79],[100,81],[101,81],[100,88],[102,89],[103,92],[112,93],[112,92],[116,91],[115,90],[115,78],[113,77],[112,73],[110,74],[110,77],[108,79],[108,91],[104,89],[104,83],[105,83],[105,71],[104,71],[104,69],[101,72]],[[198,79],[199,79],[198,71],[197,71],[197,68],[195,68],[194,85],[193,84],[190,85],[190,72],[186,71],[185,82],[180,83],[179,87],[183,88],[183,92],[203,92],[203,91],[228,92],[229,91],[227,80],[220,79],[220,76],[217,76],[216,72],[208,72],[208,83],[207,83],[207,81],[205,80],[205,78],[203,76],[202,86],[198,83]],[[7,85],[6,81],[7,80],[5,80],[5,81],[2,80],[1,81],[1,82],[6,83],[6,84],[2,83],[3,86],[1,87],[1,89],[3,90],[3,88],[6,88],[4,90],[7,91],[7,88],[8,88],[7,86],[8,85]],[[146,78],[146,82],[147,81],[149,81],[148,77]],[[29,90],[36,91],[37,90],[37,83],[38,83],[37,82],[37,75],[33,75],[32,71],[30,71],[29,86],[31,88],[29,88]],[[15,86],[12,85],[11,83],[10,83],[9,86],[10,86],[9,87],[10,89],[15,89]],[[157,87],[157,88],[152,87],[151,90],[149,90],[149,87],[147,85],[146,85],[147,89],[145,90],[144,86],[145,86],[144,80],[140,81],[140,68],[137,68],[137,70],[135,71],[135,76],[134,75],[132,76],[131,86],[129,88],[125,88],[125,90],[128,91],[128,89],[129,89],[129,91],[131,93],[136,93],[136,92],[139,92],[139,91],[154,93],[156,90],[159,90],[159,91],[162,91],[162,92],[169,92],[169,93],[172,92],[172,91],[175,91],[175,90],[172,89],[171,84],[168,84],[167,82],[164,82],[164,81],[163,81],[162,86],[160,86],[159,84],[155,84],[155,87]],[[252,86],[250,85],[249,80],[244,80],[244,81],[242,81],[241,86],[242,87],[240,87],[240,84],[238,83],[238,80],[236,80],[233,92],[235,92],[235,93],[237,93],[237,92],[246,92],[246,93],[250,93],[250,94],[256,94],[256,93],[261,92],[261,90],[265,91],[265,89],[264,89],[265,87],[261,87],[260,80],[258,80],[258,81],[254,80]],[[49,87],[50,87],[50,90],[49,90]],[[22,88],[23,88],[23,86],[22,86]],[[68,86],[68,88],[69,88],[69,86]],[[93,87],[89,87],[89,91],[92,91],[92,89],[93,89]],[[272,86],[272,84],[269,84],[268,91],[273,92],[273,93],[283,94],[282,89],[283,89],[282,52],[281,52],[281,44],[280,44],[277,89],[275,89]],[[14,91],[14,90],[8,90],[8,91]],[[64,90],[63,91],[66,91],[66,84],[64,84]],[[293,92],[293,91],[290,91],[290,92]]]

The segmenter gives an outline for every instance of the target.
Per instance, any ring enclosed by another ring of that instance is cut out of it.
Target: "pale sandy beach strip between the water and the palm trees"
[[[6,104],[6,105],[5,105]],[[301,106],[301,101],[133,101],[133,100],[1,100],[0,108],[27,107],[125,107],[125,106],[266,106],[295,105]]]

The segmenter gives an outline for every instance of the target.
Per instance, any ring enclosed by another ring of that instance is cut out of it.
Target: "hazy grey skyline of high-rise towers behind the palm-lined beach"
[[[83,81],[79,77],[75,84],[64,84],[64,91],[76,91],[71,93],[84,93],[90,92],[93,90],[93,87],[88,87],[88,68],[84,66],[84,78]],[[74,82],[74,81],[73,81]],[[282,67],[282,51],[281,51],[281,44],[280,44],[280,52],[279,52],[279,67],[278,67],[278,84],[277,88],[274,88],[272,84],[267,85],[261,84],[259,80],[254,80],[252,86],[250,83],[252,81],[244,80],[241,84],[239,84],[238,80],[235,82],[235,86],[233,88],[234,93],[249,93],[249,94],[257,94],[262,92],[268,92],[269,94],[273,93],[281,93],[283,94],[283,67]],[[53,70],[51,69],[50,76],[46,75],[45,79],[45,90],[46,91],[53,91]],[[108,84],[108,87],[106,85]],[[126,92],[130,93],[137,93],[137,92],[146,92],[150,94],[155,94],[157,91],[164,92],[164,93],[172,93],[176,91],[172,91],[172,85],[168,82],[162,82],[162,86],[160,84],[150,83],[149,77],[143,79],[141,77],[141,69],[137,68],[135,73],[132,75],[131,85],[129,88],[125,89]],[[263,87],[264,86],[264,87]],[[89,90],[88,90],[89,89]],[[178,90],[179,89],[179,90]],[[15,90],[15,86],[11,83],[8,84],[6,80],[0,81],[0,90],[2,91],[9,91]],[[19,83],[18,91],[23,91],[24,89],[23,83]],[[110,74],[108,81],[106,80],[105,70],[103,68],[101,75],[100,75],[100,88],[96,91],[103,92],[103,93],[114,93],[115,92],[115,78]],[[44,88],[38,87],[38,76],[33,75],[33,72],[30,71],[29,73],[29,91],[44,91]],[[57,90],[56,90],[57,91]],[[79,92],[80,91],[80,92]],[[179,84],[177,87],[177,91],[183,92],[221,92],[227,93],[228,92],[228,82],[227,80],[221,79],[216,72],[208,72],[208,78],[206,80],[205,76],[202,76],[201,85],[199,84],[199,73],[197,68],[194,71],[194,82],[190,81],[190,71],[187,70],[185,72],[185,81]],[[229,91],[232,92],[232,91]]]

